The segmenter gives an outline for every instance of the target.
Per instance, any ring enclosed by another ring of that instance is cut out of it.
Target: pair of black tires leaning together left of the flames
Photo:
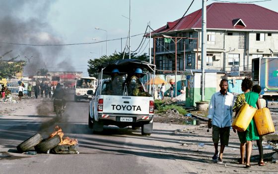
[[[55,135],[49,139],[43,139],[41,134],[35,134],[29,139],[20,143],[16,149],[19,153],[27,152],[33,147],[38,153],[44,153],[58,146],[61,143],[59,135]]]

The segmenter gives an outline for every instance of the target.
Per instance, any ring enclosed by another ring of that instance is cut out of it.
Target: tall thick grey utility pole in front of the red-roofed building
[[[205,101],[205,69],[207,67],[207,0],[202,5],[202,101]]]

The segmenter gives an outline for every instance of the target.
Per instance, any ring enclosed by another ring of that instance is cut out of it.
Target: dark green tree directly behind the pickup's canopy
[[[100,58],[96,58],[96,59],[90,59],[88,60],[88,74],[90,77],[95,77],[97,78],[97,73],[98,73],[98,67],[101,66],[101,64],[103,63],[107,63],[107,62],[113,62],[116,60],[120,60],[123,59],[124,53],[114,53],[110,56],[101,56]],[[129,54],[125,53],[125,59],[129,58]],[[138,59],[141,61],[146,61],[149,62],[149,56],[147,56],[146,53],[137,56],[136,53],[132,53],[131,54],[131,59]]]

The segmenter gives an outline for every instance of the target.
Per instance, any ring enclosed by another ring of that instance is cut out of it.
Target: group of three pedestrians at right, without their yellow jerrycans
[[[245,78],[242,81],[241,89],[243,93],[237,96],[235,102],[233,101],[233,94],[227,91],[228,81],[221,80],[219,86],[220,91],[214,93],[211,96],[209,103],[208,127],[212,128],[212,141],[215,148],[212,160],[217,161],[217,163],[223,163],[222,157],[224,148],[225,146],[228,146],[229,142],[233,112],[235,112],[235,115],[237,115],[241,106],[246,103],[257,109],[267,107],[267,104],[265,99],[259,97],[261,87],[259,85],[253,86],[253,82],[248,78]],[[252,141],[256,140],[260,154],[258,165],[264,166],[265,163],[263,158],[262,136],[259,136],[258,134],[254,118],[251,120],[246,131],[240,132],[236,131],[234,128],[233,131],[237,132],[240,142],[241,158],[238,160],[238,163],[245,165],[245,168],[250,168]],[[220,152],[218,153],[219,140]],[[244,156],[246,157],[244,158]]]

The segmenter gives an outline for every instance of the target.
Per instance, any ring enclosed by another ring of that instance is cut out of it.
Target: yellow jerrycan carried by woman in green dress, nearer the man
[[[232,123],[232,127],[239,132],[244,132],[249,126],[256,110],[256,108],[249,104],[242,105]]]

